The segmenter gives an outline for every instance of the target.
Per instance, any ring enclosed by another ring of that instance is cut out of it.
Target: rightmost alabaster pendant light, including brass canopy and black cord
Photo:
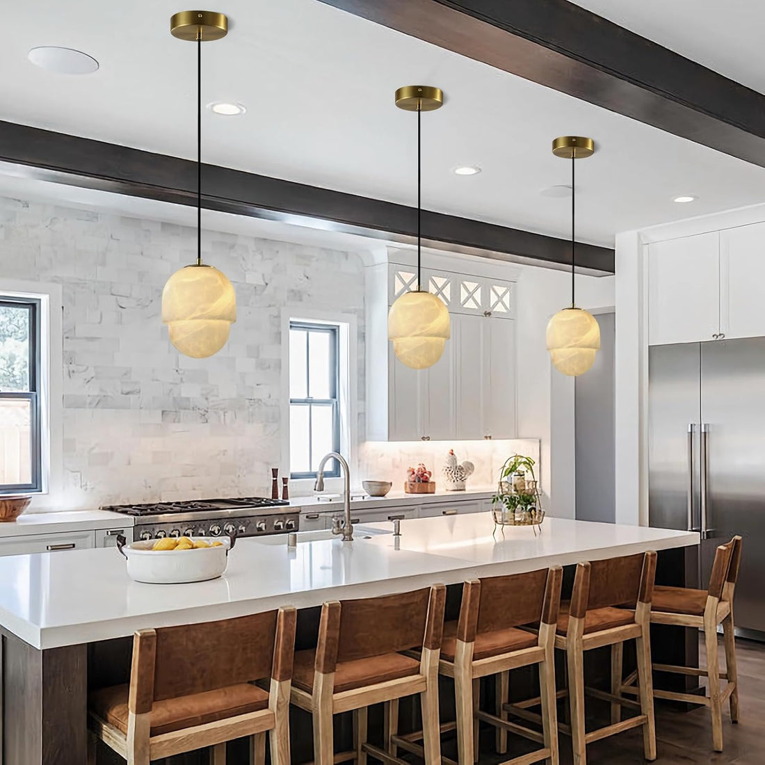
[[[578,135],[564,135],[552,142],[552,153],[556,157],[571,160],[571,307],[558,311],[547,325],[547,350],[552,365],[558,372],[576,377],[590,369],[595,353],[601,347],[601,328],[595,317],[575,303],[575,216],[576,216],[576,160],[591,157],[595,150],[592,138]]]

